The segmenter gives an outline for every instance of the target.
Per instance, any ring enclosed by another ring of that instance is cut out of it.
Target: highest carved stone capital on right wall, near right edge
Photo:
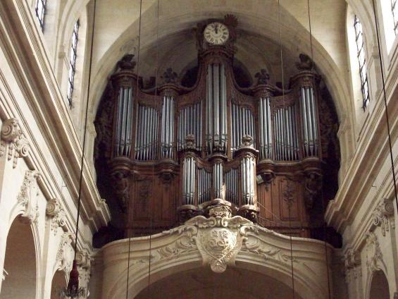
[[[391,200],[384,198],[380,200],[375,210],[372,213],[372,225],[370,231],[374,231],[376,227],[380,226],[383,236],[390,228],[394,229],[394,205]]]

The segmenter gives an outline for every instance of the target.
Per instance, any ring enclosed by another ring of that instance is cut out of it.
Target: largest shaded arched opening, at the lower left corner
[[[37,298],[37,252],[32,226],[17,216],[8,231],[1,299]]]

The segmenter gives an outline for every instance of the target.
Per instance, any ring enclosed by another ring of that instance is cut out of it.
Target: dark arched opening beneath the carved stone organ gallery
[[[193,269],[151,283],[135,298],[285,299],[292,298],[292,288],[247,269],[228,268],[223,274],[213,273],[210,269]],[[294,298],[301,299],[301,296],[294,293]]]

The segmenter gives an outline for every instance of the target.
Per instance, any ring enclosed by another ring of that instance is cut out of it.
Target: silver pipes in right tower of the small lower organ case
[[[242,205],[254,205],[254,157],[246,156],[242,159]]]

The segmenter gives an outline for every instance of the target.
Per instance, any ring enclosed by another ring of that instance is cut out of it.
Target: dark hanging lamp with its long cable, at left
[[[79,298],[87,293],[83,287],[79,286],[79,271],[77,270],[77,235],[79,233],[79,220],[80,220],[80,207],[82,203],[82,181],[83,181],[83,166],[85,162],[85,147],[86,147],[86,133],[87,133],[87,119],[89,112],[89,92],[90,92],[90,82],[91,82],[91,74],[92,74],[92,51],[94,44],[94,28],[95,28],[95,9],[97,6],[97,0],[94,0],[94,10],[93,10],[93,20],[92,20],[92,37],[91,37],[91,46],[90,46],[90,60],[89,60],[89,78],[87,85],[87,102],[86,102],[86,112],[85,112],[85,130],[83,133],[83,146],[82,146],[82,160],[80,163],[80,180],[79,180],[79,195],[77,197],[77,219],[76,219],[76,231],[75,231],[75,244],[73,245],[73,249],[75,251],[73,257],[73,265],[72,270],[69,274],[68,286],[66,288],[61,288],[59,291],[59,295],[61,298]]]

